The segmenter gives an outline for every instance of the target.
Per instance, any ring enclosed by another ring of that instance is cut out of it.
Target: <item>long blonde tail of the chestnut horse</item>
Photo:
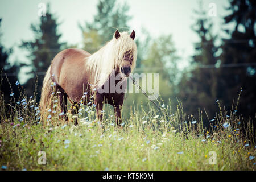
[[[39,108],[41,112],[41,122],[44,122],[46,119],[46,114],[47,114],[47,107],[51,105],[51,100],[52,100],[52,80],[51,80],[51,66],[48,68],[46,72],[46,76],[44,76],[44,81],[43,81],[43,88],[41,92],[41,100],[39,103]]]

